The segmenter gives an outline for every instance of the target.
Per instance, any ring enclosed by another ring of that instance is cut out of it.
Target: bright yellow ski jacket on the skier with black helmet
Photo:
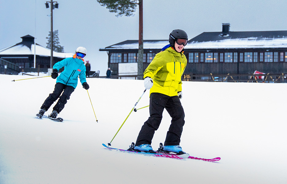
[[[172,47],[156,54],[143,72],[143,78],[150,77],[153,80],[150,94],[177,96],[177,93],[182,91],[181,77],[186,64],[186,56],[176,52]]]

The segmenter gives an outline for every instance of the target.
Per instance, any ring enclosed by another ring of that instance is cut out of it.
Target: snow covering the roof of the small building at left
[[[53,56],[58,58],[72,57],[73,54],[75,53],[53,51]],[[0,55],[34,55],[34,44],[31,45],[31,49],[24,44],[16,44],[12,47],[6,47],[0,50]],[[51,56],[51,49],[36,44],[36,55]]]

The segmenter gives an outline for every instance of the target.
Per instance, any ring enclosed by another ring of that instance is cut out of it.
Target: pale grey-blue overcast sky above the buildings
[[[107,53],[100,48],[138,40],[138,8],[132,17],[116,17],[96,0],[58,0],[53,29],[65,52],[87,48],[93,71],[105,75]],[[21,42],[27,34],[47,46],[50,8],[45,0],[0,0],[0,49]],[[173,29],[183,29],[189,39],[203,32],[218,32],[222,23],[231,31],[287,30],[286,0],[143,0],[143,39],[168,39]],[[286,35],[287,36],[287,35]]]

